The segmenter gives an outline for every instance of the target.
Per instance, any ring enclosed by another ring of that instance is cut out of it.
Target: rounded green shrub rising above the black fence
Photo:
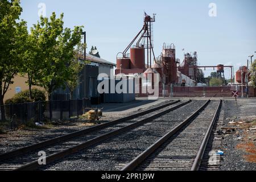
[[[5,104],[22,104],[26,102],[46,101],[46,95],[42,90],[32,89],[32,99],[29,90],[16,94],[13,98],[6,100]]]

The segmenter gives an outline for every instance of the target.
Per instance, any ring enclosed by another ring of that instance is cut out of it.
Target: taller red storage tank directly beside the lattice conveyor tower
[[[131,64],[130,68],[139,68],[144,69],[145,68],[145,54],[144,54],[144,48],[141,47],[135,47],[131,48]]]

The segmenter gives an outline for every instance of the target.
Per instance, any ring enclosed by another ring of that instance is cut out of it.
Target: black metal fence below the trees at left
[[[24,104],[9,104],[5,106],[5,116],[9,121],[18,123],[27,121],[43,122],[79,117],[86,107],[91,107],[90,100],[39,101]],[[0,117],[1,118],[1,117]]]

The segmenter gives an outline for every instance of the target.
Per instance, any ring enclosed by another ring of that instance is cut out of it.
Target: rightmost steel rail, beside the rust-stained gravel
[[[212,122],[210,122],[210,126],[207,130],[207,133],[205,134],[203,142],[201,143],[199,152],[197,153],[197,156],[196,156],[195,162],[193,163],[191,171],[199,171],[200,164],[201,164],[201,161],[202,161],[203,156],[204,156],[205,148],[207,147],[207,144],[208,144],[208,141],[209,141],[209,138],[210,138],[210,134],[212,133],[212,129],[213,129],[213,126],[216,122],[218,113],[221,109],[221,105],[222,105],[222,100],[220,100],[220,102],[218,104],[218,107],[217,107],[217,110],[216,110],[216,112],[215,112],[215,114],[212,118]]]

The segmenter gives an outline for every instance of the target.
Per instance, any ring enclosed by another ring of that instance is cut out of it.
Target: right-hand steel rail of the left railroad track
[[[166,113],[168,113],[170,111],[179,109],[180,107],[182,107],[184,105],[187,105],[190,102],[191,102],[191,100],[189,100],[187,102],[183,102],[183,103],[181,103],[181,104],[179,104],[177,106],[171,107],[170,109],[161,111],[158,114],[154,114],[154,115],[151,115],[148,118],[144,118],[141,121],[135,122],[135,123],[133,123],[131,125],[128,125],[128,126],[125,126],[125,127],[122,127],[121,129],[118,129],[118,130],[112,131],[110,133],[101,135],[99,137],[87,140],[84,143],[78,144],[78,145],[76,145],[74,147],[67,148],[66,150],[63,150],[63,151],[60,151],[60,152],[56,152],[55,154],[52,154],[52,155],[49,155],[49,156],[46,157],[46,163],[50,164],[50,163],[52,163],[53,161],[55,161],[57,159],[61,159],[61,158],[65,157],[65,156],[67,156],[67,155],[71,155],[71,154],[73,154],[73,153],[75,153],[77,151],[80,151],[83,148],[93,146],[94,144],[100,143],[100,142],[102,142],[102,141],[104,141],[106,139],[109,139],[109,138],[114,137],[116,135],[123,134],[126,131],[129,131],[131,129],[134,129],[135,127],[143,125],[144,123],[152,121],[153,119],[158,118],[161,115],[164,115],[164,114],[166,114]],[[35,160],[34,162],[25,164],[25,165],[23,165],[23,166],[21,166],[19,168],[14,169],[13,171],[32,171],[32,170],[38,169],[39,167],[42,167],[42,165],[40,165],[38,163],[38,160]]]

